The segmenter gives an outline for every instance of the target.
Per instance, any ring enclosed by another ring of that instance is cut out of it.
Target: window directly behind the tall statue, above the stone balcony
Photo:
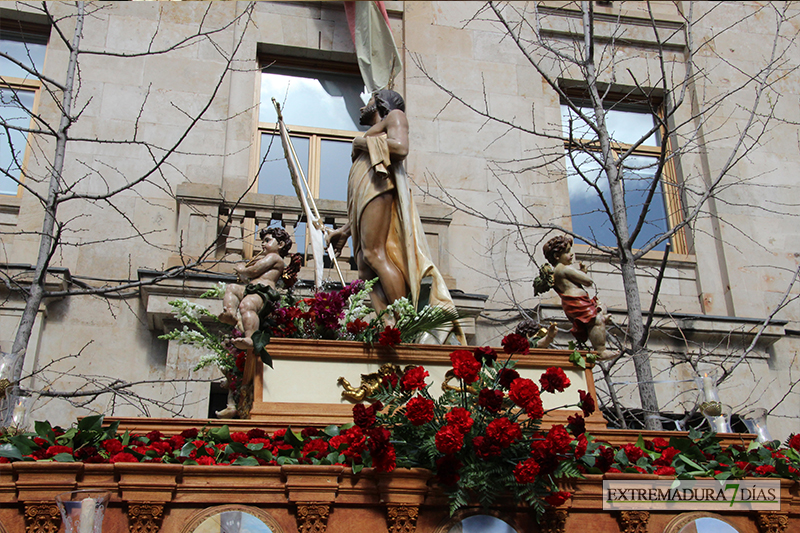
[[[358,71],[329,72],[268,66],[261,74],[258,192],[295,196],[272,104],[281,104],[315,198],[347,200],[353,138],[366,131],[360,109],[369,100]]]

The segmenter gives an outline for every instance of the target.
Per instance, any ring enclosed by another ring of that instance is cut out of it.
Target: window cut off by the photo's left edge
[[[41,72],[47,48],[46,26],[0,20],[0,51]],[[29,128],[39,79],[13,61],[0,58],[0,194],[16,195],[24,180]]]

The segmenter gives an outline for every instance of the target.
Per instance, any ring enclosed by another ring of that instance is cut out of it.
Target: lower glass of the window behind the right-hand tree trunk
[[[592,159],[590,154],[575,153],[575,165],[567,157],[567,183],[569,185],[569,202],[572,212],[572,229],[579,235],[593,237],[601,245],[616,246],[616,239],[612,232],[608,214],[603,208],[600,195],[591,184],[595,184],[611,206],[611,196],[608,189],[608,180],[600,171],[600,165]],[[628,227],[633,229],[642,212],[644,201],[647,197],[648,187],[655,176],[655,157],[631,156],[625,160],[623,180],[625,188],[625,205],[628,213]],[[576,169],[577,167],[577,169]],[[580,171],[583,177],[578,173]],[[587,181],[589,183],[587,183]],[[659,183],[650,203],[645,224],[639,232],[634,243],[634,248],[640,248],[652,238],[667,230],[666,211],[664,209],[664,195]],[[656,247],[663,250],[665,243]]]

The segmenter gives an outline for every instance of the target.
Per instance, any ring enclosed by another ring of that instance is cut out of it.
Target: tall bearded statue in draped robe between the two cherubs
[[[408,121],[403,97],[377,91],[361,109],[361,124],[370,126],[353,139],[353,165],[347,183],[348,222],[328,234],[341,253],[353,237],[353,255],[361,279],[378,278],[370,295],[381,311],[411,295],[417,307],[423,278],[432,279],[428,304],[454,309],[444,278],[430,259],[403,161],[408,155]],[[460,329],[456,332],[466,344]]]

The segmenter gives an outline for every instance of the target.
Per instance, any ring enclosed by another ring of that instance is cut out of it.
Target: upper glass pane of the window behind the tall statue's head
[[[272,98],[287,124],[366,131],[358,120],[369,101],[359,76],[268,67],[261,73],[261,122],[277,122]],[[366,98],[366,99],[365,99]]]

